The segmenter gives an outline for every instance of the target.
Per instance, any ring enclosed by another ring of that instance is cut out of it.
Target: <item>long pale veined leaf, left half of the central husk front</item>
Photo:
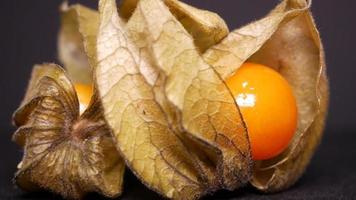
[[[96,80],[117,148],[149,188],[175,199],[200,196],[205,186],[196,160],[141,74],[149,63],[127,36],[115,0],[102,0],[99,7]]]

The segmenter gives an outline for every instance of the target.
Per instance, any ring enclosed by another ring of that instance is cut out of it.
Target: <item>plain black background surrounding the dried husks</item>
[[[56,62],[60,0],[10,0],[0,3],[0,199],[53,199],[52,194],[26,194],[11,183],[21,150],[11,142],[11,114],[24,94],[33,64]],[[97,1],[81,0],[92,8]],[[220,14],[231,30],[256,20],[277,0],[186,0]],[[305,176],[291,189],[262,195],[253,189],[219,192],[211,199],[353,199],[356,198],[356,1],[314,0],[326,51],[331,102],[325,137]],[[156,199],[127,173],[123,199]],[[97,196],[92,196],[94,199]]]

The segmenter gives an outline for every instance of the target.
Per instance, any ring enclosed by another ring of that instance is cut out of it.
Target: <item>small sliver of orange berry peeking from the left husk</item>
[[[78,96],[80,114],[82,114],[90,103],[93,88],[90,85],[80,83],[74,84],[74,88]]]

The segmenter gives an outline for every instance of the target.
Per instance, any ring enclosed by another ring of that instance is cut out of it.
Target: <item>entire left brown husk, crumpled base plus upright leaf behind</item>
[[[34,67],[13,117],[18,127],[13,140],[24,148],[15,182],[25,190],[46,189],[71,199],[91,192],[117,197],[125,165],[103,118],[96,88],[80,115],[72,85],[93,84],[90,68],[96,62],[99,15],[80,5],[63,4],[61,12],[59,52],[65,55],[60,57],[70,74],[55,64]]]

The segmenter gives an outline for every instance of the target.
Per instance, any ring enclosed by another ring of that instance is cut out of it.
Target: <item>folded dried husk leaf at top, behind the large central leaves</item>
[[[124,0],[120,6],[120,14],[129,19],[137,7],[138,0]],[[229,29],[225,21],[216,13],[201,10],[178,0],[164,0],[173,15],[194,38],[201,52],[220,42]]]

